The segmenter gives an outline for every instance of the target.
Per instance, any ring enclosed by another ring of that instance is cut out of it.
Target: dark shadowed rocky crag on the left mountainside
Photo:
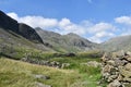
[[[17,21],[11,18],[2,11],[0,11],[0,28],[4,29],[13,35],[15,35],[15,34],[21,35],[31,41],[43,44],[41,38],[35,32],[34,28],[32,28],[31,26],[28,26],[26,24],[17,23]]]

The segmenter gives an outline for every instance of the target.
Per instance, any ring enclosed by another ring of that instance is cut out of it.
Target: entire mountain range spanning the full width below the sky
[[[103,44],[94,44],[76,34],[60,35],[47,32],[39,27],[33,28],[26,24],[17,23],[0,11],[0,47],[4,45],[15,47],[29,47],[45,51],[78,52],[88,50],[131,51],[131,35],[111,38]]]

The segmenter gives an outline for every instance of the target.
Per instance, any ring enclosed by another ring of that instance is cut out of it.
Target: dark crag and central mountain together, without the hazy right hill
[[[95,44],[80,37],[79,35],[68,34],[62,36],[40,28],[34,29],[26,24],[17,23],[17,21],[11,18],[2,11],[0,11],[0,38],[2,39],[1,44],[4,44],[7,40],[5,44],[12,44],[14,46],[25,45],[32,47],[32,45],[34,45],[36,48],[59,52],[85,51],[95,48]],[[25,40],[29,41],[29,44],[27,45]]]

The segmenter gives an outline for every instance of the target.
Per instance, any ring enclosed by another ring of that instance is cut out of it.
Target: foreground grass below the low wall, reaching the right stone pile
[[[96,87],[100,78],[99,69],[80,67],[61,70],[0,58],[0,87],[38,87],[36,83],[52,87]],[[50,78],[35,78],[34,75]]]

